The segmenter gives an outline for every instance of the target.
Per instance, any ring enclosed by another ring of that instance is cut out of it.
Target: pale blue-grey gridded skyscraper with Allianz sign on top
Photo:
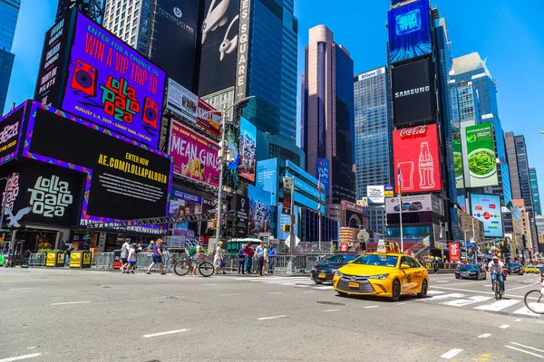
[[[354,78],[357,200],[366,197],[366,186],[392,183],[392,125],[387,74],[387,69],[380,67]]]

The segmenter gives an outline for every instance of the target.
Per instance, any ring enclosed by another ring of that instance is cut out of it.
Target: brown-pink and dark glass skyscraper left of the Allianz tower
[[[328,162],[327,204],[355,201],[354,62],[335,43],[325,25],[309,31],[303,89],[302,148],[306,167],[317,175],[317,163]]]

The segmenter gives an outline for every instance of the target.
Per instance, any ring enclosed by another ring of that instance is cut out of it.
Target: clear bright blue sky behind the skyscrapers
[[[389,0],[295,0],[299,20],[298,73],[304,71],[308,29],[327,25],[344,44],[355,72],[384,65]],[[6,110],[32,98],[44,32],[53,25],[56,0],[24,0],[15,31],[15,65]],[[454,57],[480,52],[497,81],[502,128],[524,134],[529,164],[544,192],[544,9],[541,0],[431,0],[446,18]],[[299,93],[297,93],[299,94]]]

